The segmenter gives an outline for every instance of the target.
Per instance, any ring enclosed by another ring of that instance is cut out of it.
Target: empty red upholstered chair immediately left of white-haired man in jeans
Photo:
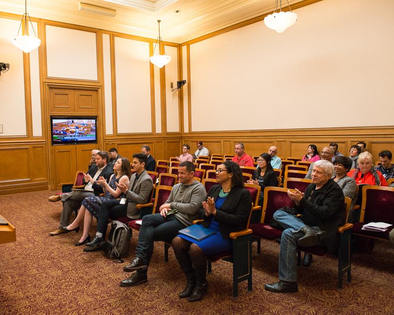
[[[253,223],[249,228],[253,230],[253,241],[257,241],[257,252],[260,253],[261,239],[274,240],[282,235],[282,231],[269,225],[276,210],[289,207],[294,208],[294,201],[287,194],[287,188],[266,187],[264,189],[263,211],[260,223]]]

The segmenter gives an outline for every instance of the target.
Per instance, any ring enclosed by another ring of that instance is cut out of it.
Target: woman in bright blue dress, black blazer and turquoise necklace
[[[182,234],[172,240],[175,257],[187,279],[179,297],[189,297],[189,302],[200,300],[206,292],[207,256],[231,250],[230,232],[245,229],[251,211],[252,198],[249,191],[243,188],[238,164],[232,161],[220,164],[216,181],[221,185],[209,189],[200,214],[204,216],[202,226],[217,232],[200,241]]]

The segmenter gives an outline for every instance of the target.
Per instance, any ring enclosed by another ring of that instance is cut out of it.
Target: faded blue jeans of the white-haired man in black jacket
[[[285,229],[282,232],[279,252],[279,279],[282,281],[297,281],[297,242],[305,234],[299,230],[306,226],[300,219],[278,210],[273,215],[274,219]],[[319,229],[318,226],[313,228]]]

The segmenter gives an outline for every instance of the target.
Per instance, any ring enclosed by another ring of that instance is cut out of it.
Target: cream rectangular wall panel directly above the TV
[[[46,25],[48,77],[97,80],[96,33]]]

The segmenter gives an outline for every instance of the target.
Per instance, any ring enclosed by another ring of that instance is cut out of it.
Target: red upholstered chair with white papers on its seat
[[[389,240],[389,233],[394,228],[394,188],[366,185],[362,187],[362,204],[360,222],[354,223],[353,235]],[[362,226],[370,222],[393,224],[385,232],[362,230]]]

